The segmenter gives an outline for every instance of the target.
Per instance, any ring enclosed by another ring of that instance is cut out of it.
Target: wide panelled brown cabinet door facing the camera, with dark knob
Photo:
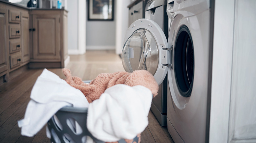
[[[60,16],[33,14],[33,58],[60,60]]]

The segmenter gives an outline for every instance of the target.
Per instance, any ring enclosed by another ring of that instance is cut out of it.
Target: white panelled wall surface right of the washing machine
[[[256,142],[255,0],[215,0],[210,143]]]

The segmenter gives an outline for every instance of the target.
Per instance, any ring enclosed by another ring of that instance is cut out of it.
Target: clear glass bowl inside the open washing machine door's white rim
[[[129,37],[124,44],[122,56],[123,67],[128,72],[147,70],[154,75],[157,71],[158,46],[147,29],[138,29]]]

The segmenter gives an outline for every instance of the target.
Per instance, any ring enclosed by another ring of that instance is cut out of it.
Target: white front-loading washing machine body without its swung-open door
[[[176,143],[208,141],[210,0],[169,0],[167,128]]]

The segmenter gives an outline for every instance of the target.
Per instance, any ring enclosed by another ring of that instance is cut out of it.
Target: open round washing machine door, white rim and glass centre
[[[127,72],[147,70],[158,85],[165,78],[169,48],[160,26],[152,20],[139,19],[127,30],[122,51],[122,64]]]

